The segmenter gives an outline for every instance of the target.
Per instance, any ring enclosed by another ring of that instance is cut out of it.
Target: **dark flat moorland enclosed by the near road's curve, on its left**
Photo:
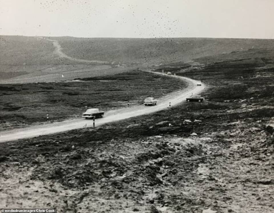
[[[75,82],[0,85],[1,128],[81,117],[86,107],[110,110],[142,104],[184,88],[184,82],[142,71],[84,78]]]

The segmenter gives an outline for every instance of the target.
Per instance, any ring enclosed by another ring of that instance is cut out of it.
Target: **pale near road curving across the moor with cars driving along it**
[[[151,72],[151,71],[146,70],[146,72]],[[139,105],[139,106],[126,107],[122,109],[107,111],[105,112],[103,118],[96,119],[95,121],[96,127],[98,127],[99,125],[103,125],[105,123],[120,121],[122,119],[136,117],[139,115],[145,115],[145,114],[153,113],[163,109],[167,109],[169,107],[169,103],[171,104],[171,107],[175,106],[185,101],[185,99],[191,94],[198,94],[205,89],[204,84],[202,84],[202,86],[197,86],[198,82],[196,80],[185,78],[185,77],[179,77],[179,76],[171,76],[171,75],[170,77],[179,78],[182,81],[186,81],[188,83],[188,87],[180,91],[172,92],[170,94],[167,94],[163,98],[158,99],[156,106]],[[77,119],[65,120],[62,122],[33,125],[33,126],[23,127],[19,129],[0,131],[0,142],[37,137],[39,135],[49,135],[54,133],[60,133],[60,132],[64,132],[72,129],[92,127],[92,125],[93,125],[92,120],[77,118]]]

